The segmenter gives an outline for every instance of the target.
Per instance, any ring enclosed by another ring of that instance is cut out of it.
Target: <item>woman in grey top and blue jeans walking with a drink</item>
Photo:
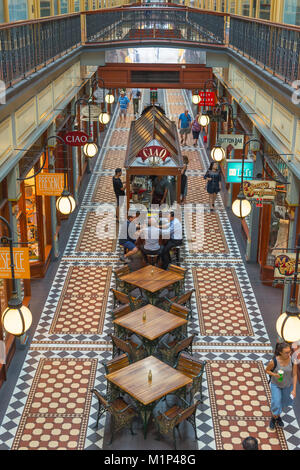
[[[293,406],[296,397],[297,364],[293,364],[291,353],[289,344],[277,343],[274,357],[266,367],[266,373],[271,377],[270,429],[274,429],[276,424],[283,428],[280,414],[285,408]]]

